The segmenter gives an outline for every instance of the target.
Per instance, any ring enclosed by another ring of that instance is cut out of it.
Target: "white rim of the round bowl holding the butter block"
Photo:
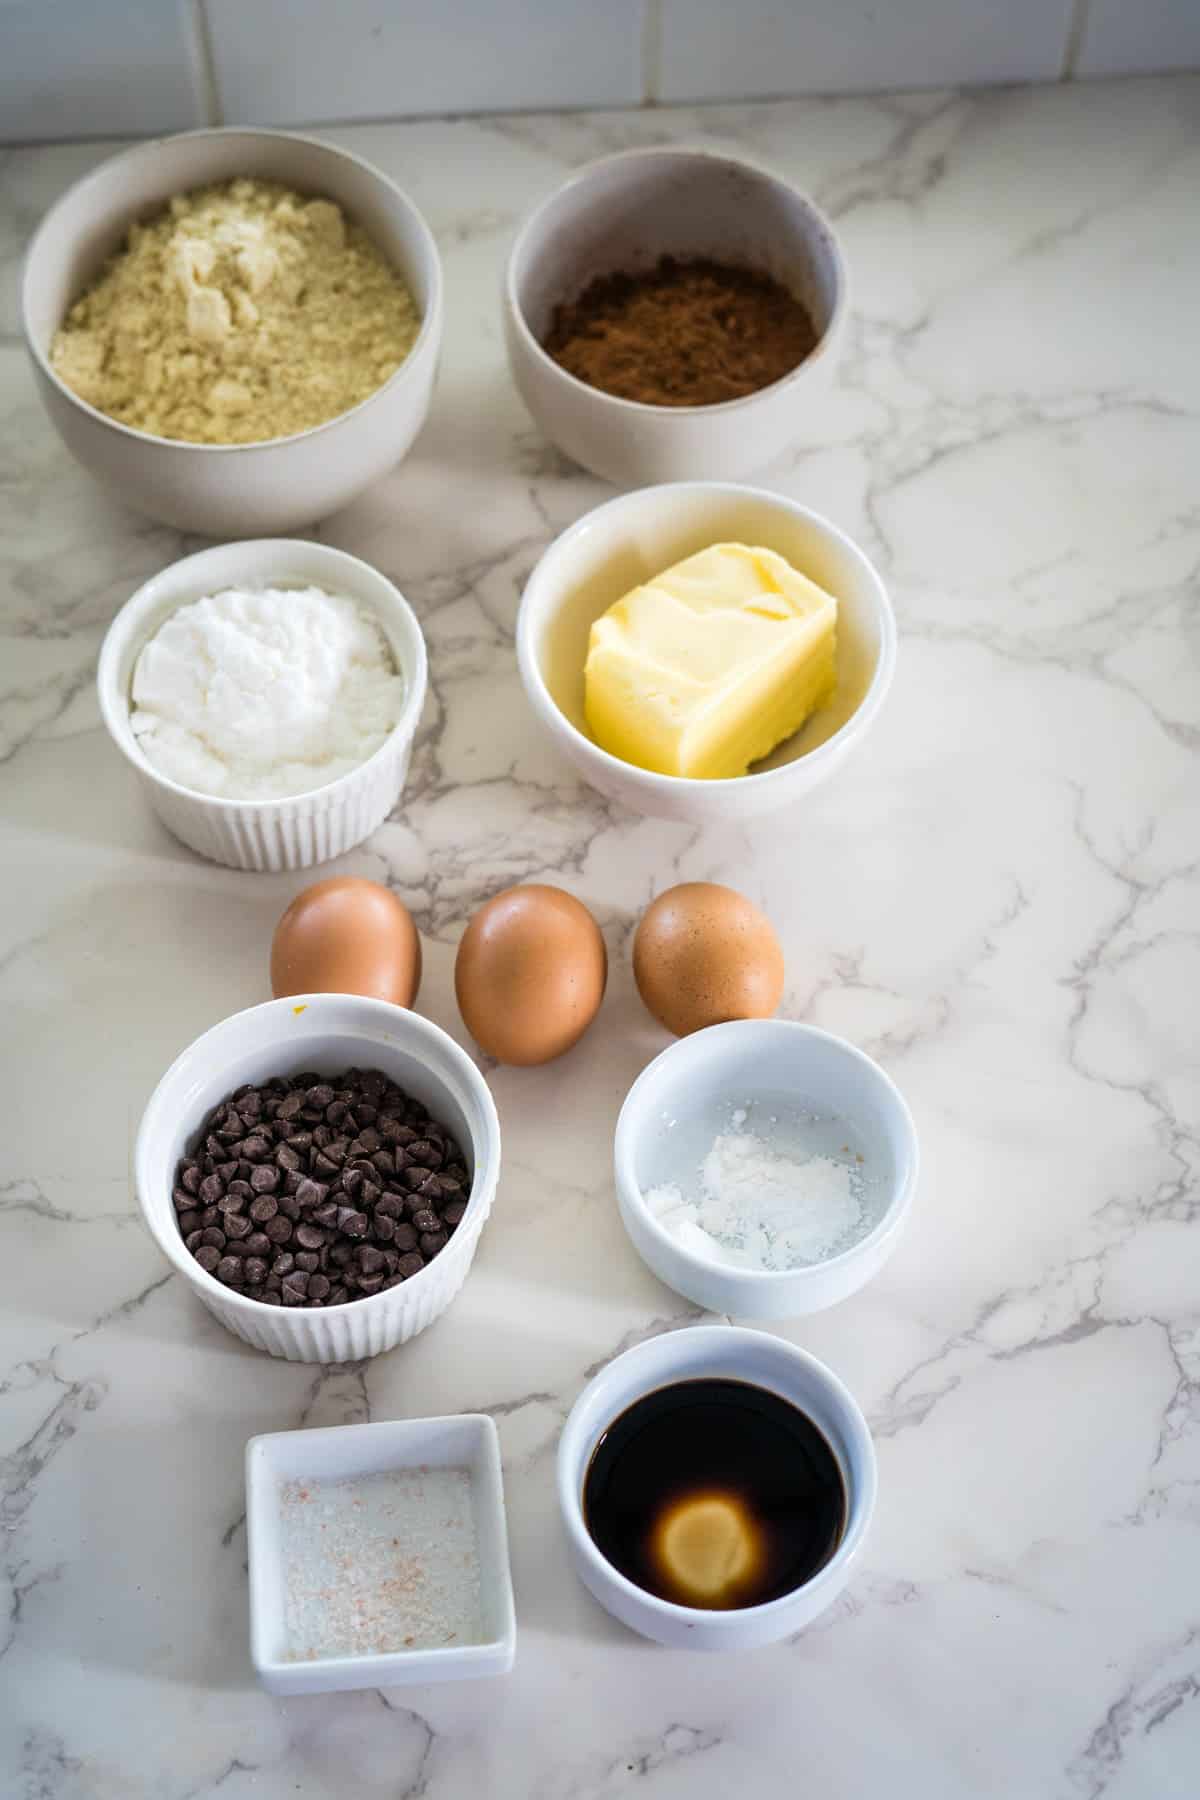
[[[802,751],[799,756],[792,758],[792,761],[781,763],[777,769],[761,769],[757,774],[716,776],[712,779],[705,779],[703,776],[667,776],[657,769],[642,769],[639,763],[626,763],[621,756],[613,756],[612,751],[599,745],[596,738],[579,731],[547,688],[542,673],[542,664],[533,643],[531,594],[538,581],[549,580],[545,574],[547,563],[569,551],[579,538],[603,529],[608,522],[608,513],[615,515],[621,508],[633,508],[639,502],[646,502],[648,495],[657,495],[662,502],[669,502],[671,495],[684,491],[721,497],[741,495],[745,499],[766,502],[779,511],[792,513],[795,518],[804,518],[808,524],[815,526],[819,533],[826,533],[826,536],[833,538],[840,549],[847,553],[851,562],[860,565],[862,574],[867,580],[867,587],[874,601],[874,614],[880,625],[880,653],[876,657],[871,680],[867,682],[867,691],[849,718],[838,725],[833,736],[826,738],[824,743],[815,743],[811,751]],[[542,724],[551,731],[563,731],[581,756],[596,758],[604,770],[613,772],[621,779],[635,779],[649,792],[660,794],[736,794],[738,790],[743,790],[747,783],[754,783],[754,790],[757,792],[761,783],[783,787],[795,776],[797,770],[815,769],[820,767],[820,763],[835,760],[842,754],[842,749],[851,742],[851,738],[865,731],[874,720],[883,706],[883,700],[887,698],[887,689],[891,688],[892,675],[896,671],[896,614],[892,612],[883,576],[878,572],[867,553],[855,544],[849,533],[842,531],[840,526],[835,526],[824,513],[815,511],[811,506],[804,506],[802,500],[793,500],[786,493],[775,493],[770,488],[759,488],[741,481],[664,481],[648,488],[628,488],[624,493],[615,493],[612,499],[601,500],[599,506],[594,506],[581,518],[576,518],[572,526],[567,526],[565,531],[560,531],[560,535],[547,544],[542,556],[529,571],[525,587],[522,589],[520,607],[516,612],[516,666],[520,670],[525,695]]]

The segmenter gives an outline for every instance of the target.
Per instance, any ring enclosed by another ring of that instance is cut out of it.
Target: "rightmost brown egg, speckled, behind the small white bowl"
[[[633,938],[637,992],[667,1031],[770,1019],[783,997],[772,922],[716,882],[680,882],[646,907]]]

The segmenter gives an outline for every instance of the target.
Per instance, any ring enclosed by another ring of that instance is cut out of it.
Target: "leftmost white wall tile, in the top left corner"
[[[194,124],[187,0],[0,0],[0,142]]]

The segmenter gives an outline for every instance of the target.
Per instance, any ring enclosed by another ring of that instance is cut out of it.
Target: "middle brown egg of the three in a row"
[[[509,887],[482,905],[453,965],[459,1012],[489,1057],[529,1066],[576,1044],[599,1012],[608,952],[561,887]]]

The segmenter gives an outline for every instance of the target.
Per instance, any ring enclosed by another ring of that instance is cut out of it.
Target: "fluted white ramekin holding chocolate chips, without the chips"
[[[272,1075],[383,1069],[462,1147],[471,1197],[459,1229],[419,1274],[342,1307],[268,1307],[236,1294],[185,1249],[171,1193],[205,1116],[243,1082]],[[266,1001],[198,1037],[162,1076],[142,1114],[133,1177],[146,1224],[171,1267],[221,1325],[293,1363],[353,1363],[407,1343],[446,1310],[471,1267],[500,1174],[500,1121],[488,1084],[455,1040],[419,1013],[356,994]]]

